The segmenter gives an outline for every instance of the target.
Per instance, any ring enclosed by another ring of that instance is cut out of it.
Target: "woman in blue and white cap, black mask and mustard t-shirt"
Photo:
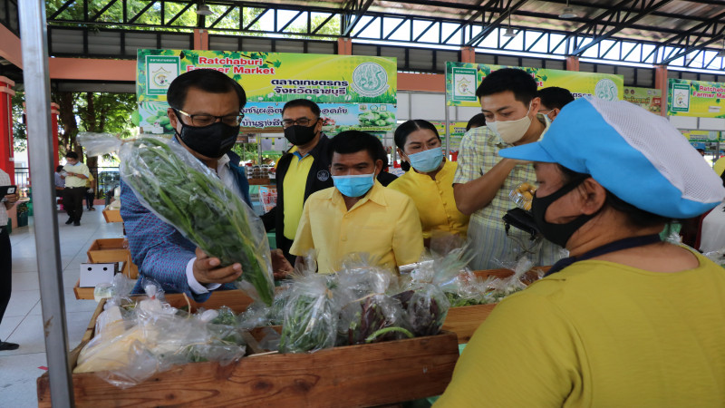
[[[532,213],[569,250],[480,325],[436,406],[722,406],[725,270],[661,241],[715,207],[720,178],[664,118],[582,98],[543,139]]]

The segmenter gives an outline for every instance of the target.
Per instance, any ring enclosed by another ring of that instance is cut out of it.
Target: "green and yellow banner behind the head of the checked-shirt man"
[[[559,86],[575,98],[594,95],[608,101],[623,99],[624,77],[611,73],[579,73],[547,68],[527,68],[480,63],[446,63],[446,96],[449,106],[478,107],[476,89],[483,78],[501,68],[518,68],[531,74],[539,88]]]

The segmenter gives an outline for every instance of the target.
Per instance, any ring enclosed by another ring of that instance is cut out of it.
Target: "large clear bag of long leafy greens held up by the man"
[[[274,277],[262,220],[210,170],[175,141],[141,137],[121,141],[107,133],[79,133],[89,155],[118,151],[121,180],[140,203],[182,235],[218,257],[240,263],[237,287],[272,305]]]

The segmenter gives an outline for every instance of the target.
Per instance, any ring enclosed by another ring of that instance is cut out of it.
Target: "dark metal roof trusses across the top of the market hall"
[[[17,1],[0,0],[0,23],[15,33]],[[198,15],[200,5],[211,14]],[[336,53],[348,37],[388,47],[402,71],[440,72],[466,46],[725,71],[723,0],[49,0],[46,14],[55,56],[131,59],[139,47],[192,47],[203,28],[210,48],[229,51]],[[408,61],[415,48],[431,50],[430,67]]]

